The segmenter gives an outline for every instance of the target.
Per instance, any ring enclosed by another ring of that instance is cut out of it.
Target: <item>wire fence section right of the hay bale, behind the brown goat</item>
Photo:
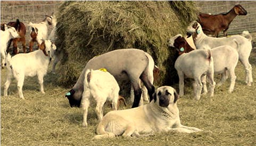
[[[227,13],[236,4],[242,5],[247,15],[237,15],[231,22],[228,35],[241,34],[244,30],[256,32],[256,1],[196,1],[198,10],[202,13]],[[222,36],[221,32],[219,36]]]

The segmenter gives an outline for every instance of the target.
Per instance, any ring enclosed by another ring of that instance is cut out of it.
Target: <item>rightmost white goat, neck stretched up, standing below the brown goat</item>
[[[245,68],[245,82],[247,85],[251,86],[253,79],[252,66],[249,63],[249,57],[252,50],[252,44],[250,39],[247,39],[240,35],[223,38],[208,37],[203,33],[201,25],[196,21],[193,21],[187,27],[187,35],[188,37],[193,35],[194,44],[197,49],[202,49],[206,46],[209,46],[210,48],[216,48],[222,45],[228,45],[236,49],[239,55],[239,61],[243,64]]]

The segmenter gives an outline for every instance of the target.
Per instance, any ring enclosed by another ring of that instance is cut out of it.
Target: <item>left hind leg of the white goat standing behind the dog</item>
[[[83,121],[82,126],[87,127],[87,114],[88,114],[88,107],[90,105],[90,91],[84,90],[82,93],[82,100],[81,100],[81,106],[82,110],[84,110]]]

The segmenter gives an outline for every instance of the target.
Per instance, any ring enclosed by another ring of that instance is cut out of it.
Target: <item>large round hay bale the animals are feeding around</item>
[[[191,1],[68,1],[57,14],[56,46],[63,51],[59,84],[73,86],[90,58],[111,50],[137,48],[161,70],[158,85],[178,81],[177,54],[168,39],[185,34],[196,19]]]

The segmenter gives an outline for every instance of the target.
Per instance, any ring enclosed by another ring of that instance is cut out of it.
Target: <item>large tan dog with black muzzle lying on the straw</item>
[[[179,109],[176,101],[178,94],[169,86],[156,90],[150,104],[107,113],[98,124],[94,139],[115,136],[147,136],[155,132],[177,131],[193,133],[202,131],[196,127],[180,124]]]

